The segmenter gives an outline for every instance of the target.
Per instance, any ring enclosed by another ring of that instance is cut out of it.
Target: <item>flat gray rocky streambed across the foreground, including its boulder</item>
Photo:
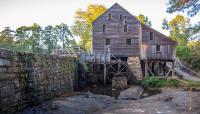
[[[111,92],[111,91],[110,91]],[[139,86],[131,86],[116,97],[76,93],[60,96],[22,114],[200,114],[200,92],[163,89],[150,95]]]

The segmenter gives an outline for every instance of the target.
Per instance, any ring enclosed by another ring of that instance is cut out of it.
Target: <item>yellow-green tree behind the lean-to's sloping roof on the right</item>
[[[170,38],[177,41],[180,44],[186,44],[190,33],[190,20],[182,15],[177,15],[171,21],[163,19],[162,28],[170,32]]]

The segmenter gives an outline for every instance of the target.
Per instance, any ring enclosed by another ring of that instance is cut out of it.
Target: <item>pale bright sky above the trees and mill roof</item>
[[[120,4],[133,15],[144,14],[152,22],[152,27],[167,35],[162,30],[162,20],[174,18],[177,13],[166,13],[168,0],[0,0],[0,31],[4,27],[15,29],[37,23],[42,27],[74,23],[75,12],[85,10],[89,4],[101,4],[109,8],[114,3]],[[182,13],[179,13],[182,14]],[[183,14],[186,16],[186,14]],[[200,14],[191,18],[197,23]]]

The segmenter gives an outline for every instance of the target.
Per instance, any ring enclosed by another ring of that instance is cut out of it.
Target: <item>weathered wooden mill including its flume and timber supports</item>
[[[104,81],[110,72],[127,72],[127,59],[130,57],[139,58],[143,76],[173,75],[177,43],[142,24],[119,4],[111,6],[93,21],[92,26],[92,53],[82,58],[93,63],[96,63],[96,58],[104,58]],[[167,62],[171,63],[171,69],[166,69]]]

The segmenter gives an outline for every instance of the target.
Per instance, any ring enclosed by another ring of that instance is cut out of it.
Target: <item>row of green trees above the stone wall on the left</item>
[[[34,23],[16,30],[5,27],[0,32],[0,47],[20,52],[52,53],[54,50],[74,47],[76,41],[67,24],[48,25],[42,28]]]

